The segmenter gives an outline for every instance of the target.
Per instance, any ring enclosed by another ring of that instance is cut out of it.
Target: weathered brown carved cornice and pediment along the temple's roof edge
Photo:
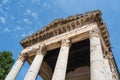
[[[96,22],[106,46],[110,46],[109,42],[109,33],[107,31],[106,25],[101,19],[101,11],[91,11],[86,12],[85,14],[77,14],[75,16],[69,16],[68,18],[59,18],[45,26],[42,30],[32,34],[31,36],[26,37],[20,43],[25,48],[41,42],[43,40],[49,39],[51,37],[60,35],[62,33],[74,30],[75,28],[81,27],[86,24]],[[104,36],[105,35],[105,36]],[[107,39],[106,39],[107,38]]]

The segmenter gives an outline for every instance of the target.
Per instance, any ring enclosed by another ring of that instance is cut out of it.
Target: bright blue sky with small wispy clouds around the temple
[[[101,10],[110,33],[111,47],[120,70],[120,0],[0,0],[0,51],[17,57],[19,42],[56,18]],[[29,69],[26,62],[16,80],[23,80]],[[41,80],[38,77],[37,80]]]

